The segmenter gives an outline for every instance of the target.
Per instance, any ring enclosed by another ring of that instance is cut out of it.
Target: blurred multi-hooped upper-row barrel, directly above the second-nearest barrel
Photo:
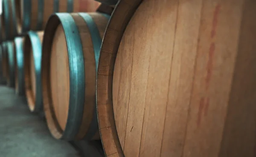
[[[95,11],[99,3],[93,0],[16,0],[17,16],[22,32],[43,30],[49,16],[55,12]]]

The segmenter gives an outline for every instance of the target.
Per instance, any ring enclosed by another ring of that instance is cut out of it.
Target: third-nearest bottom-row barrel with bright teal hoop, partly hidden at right
[[[25,36],[23,47],[26,98],[30,111],[39,114],[44,113],[41,86],[43,36],[43,31],[29,31]]]

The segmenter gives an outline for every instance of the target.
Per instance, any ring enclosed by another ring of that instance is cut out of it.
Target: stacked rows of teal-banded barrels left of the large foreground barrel
[[[100,2],[3,0],[1,80],[26,95],[29,110],[45,117],[56,139],[100,139],[96,72],[117,1]]]

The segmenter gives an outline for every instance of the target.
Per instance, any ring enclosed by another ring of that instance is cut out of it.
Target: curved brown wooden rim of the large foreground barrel
[[[124,157],[113,112],[113,69],[122,35],[141,2],[142,0],[119,0],[111,14],[102,41],[96,99],[99,132],[106,156]]]

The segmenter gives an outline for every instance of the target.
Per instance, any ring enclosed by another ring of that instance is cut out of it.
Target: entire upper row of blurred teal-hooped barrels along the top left
[[[2,0],[0,42],[13,40],[29,30],[44,30],[55,12],[91,12],[99,6],[94,0]]]

